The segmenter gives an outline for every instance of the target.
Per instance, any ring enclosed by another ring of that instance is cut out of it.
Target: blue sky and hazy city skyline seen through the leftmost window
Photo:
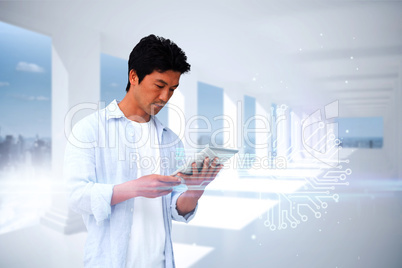
[[[50,37],[0,22],[0,170],[50,168]]]

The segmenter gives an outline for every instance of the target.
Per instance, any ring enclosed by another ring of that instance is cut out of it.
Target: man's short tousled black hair
[[[144,37],[133,48],[128,60],[128,74],[134,70],[138,76],[138,83],[153,71],[165,72],[168,70],[186,73],[190,71],[187,56],[184,51],[169,39],[153,34]],[[130,89],[130,78],[126,91]]]

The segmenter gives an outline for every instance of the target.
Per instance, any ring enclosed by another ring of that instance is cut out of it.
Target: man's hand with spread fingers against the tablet
[[[208,157],[205,158],[200,171],[195,162],[191,166],[193,169],[192,175],[179,172],[177,176],[183,178],[187,186],[202,186],[203,188],[215,179],[216,175],[218,175],[218,172],[223,167],[223,165],[218,164],[217,157],[213,159],[212,163],[210,163]]]

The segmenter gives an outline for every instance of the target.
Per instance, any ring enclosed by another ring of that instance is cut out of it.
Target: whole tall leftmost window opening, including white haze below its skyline
[[[50,37],[0,22],[0,234],[37,224],[50,204],[30,193],[50,190],[51,51]]]

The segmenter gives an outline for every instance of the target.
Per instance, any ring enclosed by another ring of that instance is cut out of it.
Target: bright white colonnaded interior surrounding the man
[[[177,267],[401,267],[401,14],[400,1],[1,1],[1,23],[50,40],[51,141],[45,171],[0,171],[0,266],[83,267],[66,136],[124,96],[126,73],[102,79],[155,34],[192,66],[161,119],[187,153],[239,149],[195,219],[173,224]]]

